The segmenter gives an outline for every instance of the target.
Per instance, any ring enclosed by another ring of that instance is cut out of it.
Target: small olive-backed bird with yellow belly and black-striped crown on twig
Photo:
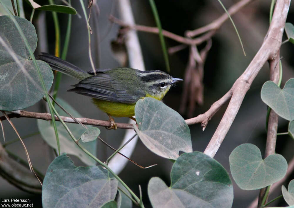
[[[140,98],[161,100],[174,83],[183,81],[163,71],[131,68],[96,69],[95,75],[93,71],[83,71],[47,53],[38,55],[38,59],[45,61],[53,70],[80,80],[68,91],[93,98],[93,103],[109,117],[111,126],[108,129],[117,129],[112,116],[134,120],[132,116],[135,115],[135,105]]]

